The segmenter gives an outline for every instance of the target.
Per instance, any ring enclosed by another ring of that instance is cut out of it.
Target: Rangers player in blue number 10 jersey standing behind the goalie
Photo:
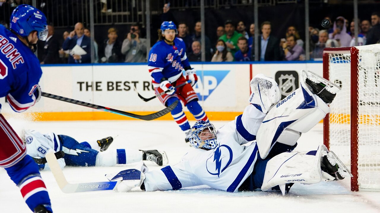
[[[161,103],[168,106],[176,100],[181,100],[197,121],[208,121],[206,113],[198,103],[198,96],[192,88],[198,77],[187,60],[185,42],[181,38],[176,38],[176,34],[177,27],[173,22],[163,22],[158,32],[160,41],[149,52],[148,69],[155,93],[160,94],[169,90],[166,94],[158,97]],[[183,72],[185,76],[182,75]],[[175,88],[176,85],[187,80],[191,81],[191,85],[185,84]],[[182,110],[182,104],[178,104],[171,111],[171,115],[181,130],[185,132],[185,141],[188,142],[190,124]]]

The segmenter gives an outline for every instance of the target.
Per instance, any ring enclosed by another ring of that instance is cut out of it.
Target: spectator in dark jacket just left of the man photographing
[[[108,39],[105,39],[99,49],[101,63],[117,63],[122,61],[121,44],[117,41],[117,30],[108,29]]]

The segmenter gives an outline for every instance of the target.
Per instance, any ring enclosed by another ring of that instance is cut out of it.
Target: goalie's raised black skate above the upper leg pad
[[[302,70],[302,77],[306,84],[310,86],[314,94],[327,104],[331,103],[336,96],[336,92],[342,89],[331,81],[310,71],[306,72],[305,70]]]

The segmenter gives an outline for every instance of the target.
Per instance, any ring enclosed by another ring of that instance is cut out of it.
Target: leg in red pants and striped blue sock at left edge
[[[41,179],[37,164],[26,155],[25,145],[5,118],[0,114],[0,166],[20,188],[30,210],[43,205],[51,211],[49,194]]]

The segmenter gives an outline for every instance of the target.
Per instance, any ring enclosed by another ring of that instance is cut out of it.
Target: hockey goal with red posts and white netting
[[[324,119],[324,143],[351,166],[351,191],[380,191],[380,44],[326,48],[323,77],[342,88]]]

